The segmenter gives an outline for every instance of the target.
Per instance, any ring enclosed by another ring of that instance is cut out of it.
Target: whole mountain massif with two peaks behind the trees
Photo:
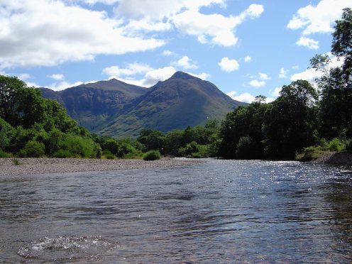
[[[185,72],[143,88],[111,79],[53,92],[72,118],[90,131],[105,136],[136,137],[143,128],[163,132],[223,119],[229,111],[245,105],[231,99],[211,82]]]

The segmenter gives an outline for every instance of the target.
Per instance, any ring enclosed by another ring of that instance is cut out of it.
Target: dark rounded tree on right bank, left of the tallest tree
[[[284,85],[270,104],[263,132],[265,156],[269,159],[292,160],[295,153],[317,140],[318,94],[309,82],[297,80]]]

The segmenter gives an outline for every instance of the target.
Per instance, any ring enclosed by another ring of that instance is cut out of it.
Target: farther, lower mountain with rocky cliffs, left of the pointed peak
[[[96,131],[99,126],[104,126],[109,118],[121,114],[133,100],[148,91],[117,79],[81,84],[60,92],[48,88],[40,90],[43,97],[55,99],[65,106],[67,114],[89,131]]]

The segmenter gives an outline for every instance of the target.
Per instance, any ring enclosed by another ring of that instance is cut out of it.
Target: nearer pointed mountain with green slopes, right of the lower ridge
[[[107,123],[99,133],[137,136],[143,128],[166,132],[203,124],[208,119],[223,119],[239,105],[243,103],[234,101],[211,82],[176,72],[148,89],[128,111]]]

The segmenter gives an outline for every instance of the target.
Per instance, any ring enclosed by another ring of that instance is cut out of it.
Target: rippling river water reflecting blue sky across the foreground
[[[4,263],[352,261],[351,167],[207,160],[0,189]]]

